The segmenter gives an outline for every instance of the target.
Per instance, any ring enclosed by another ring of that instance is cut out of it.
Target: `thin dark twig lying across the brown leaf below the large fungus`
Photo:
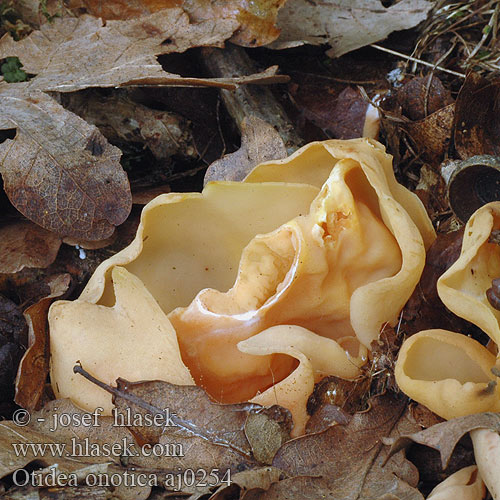
[[[122,391],[117,389],[116,387],[112,387],[104,382],[93,377],[89,372],[87,372],[81,365],[75,365],[73,367],[73,372],[78,373],[82,377],[86,378],[89,382],[99,386],[101,389],[104,389],[106,392],[113,394],[113,396],[117,398],[125,399],[130,403],[150,412],[152,415],[165,415],[165,410],[161,408],[157,408],[156,406],[144,401],[142,398],[137,397],[135,394],[131,394],[129,392]],[[217,444],[219,446],[225,446],[226,448],[230,448],[241,455],[244,455],[247,458],[252,458],[252,456],[247,453],[245,450],[241,449],[238,446],[233,445],[232,443],[225,441],[218,437],[215,433],[211,432],[208,429],[200,429],[198,426],[194,425],[192,422],[188,420],[184,420],[178,417],[175,413],[169,414],[169,420],[174,423],[179,429],[186,432],[189,436],[199,437],[210,443]]]

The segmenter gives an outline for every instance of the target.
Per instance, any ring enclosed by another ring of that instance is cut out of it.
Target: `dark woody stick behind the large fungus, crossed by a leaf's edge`
[[[202,60],[210,74],[216,77],[238,76],[253,70],[253,64],[244,49],[231,44],[227,44],[224,50],[202,49]],[[259,85],[245,85],[234,92],[221,90],[221,95],[240,132],[243,119],[253,115],[269,123],[279,132],[288,154],[304,144],[269,89]]]

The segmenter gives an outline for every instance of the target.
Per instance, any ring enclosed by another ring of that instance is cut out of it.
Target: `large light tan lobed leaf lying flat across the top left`
[[[241,83],[274,83],[276,67],[239,78],[188,78],[163,71],[156,56],[192,47],[221,46],[237,28],[230,19],[191,22],[182,9],[139,19],[108,21],[85,15],[57,18],[29,37],[0,39],[0,59],[19,57],[36,77],[29,90],[73,92],[89,87],[188,85],[234,89]],[[12,85],[12,84],[11,84]],[[0,122],[1,123],[1,122]]]

